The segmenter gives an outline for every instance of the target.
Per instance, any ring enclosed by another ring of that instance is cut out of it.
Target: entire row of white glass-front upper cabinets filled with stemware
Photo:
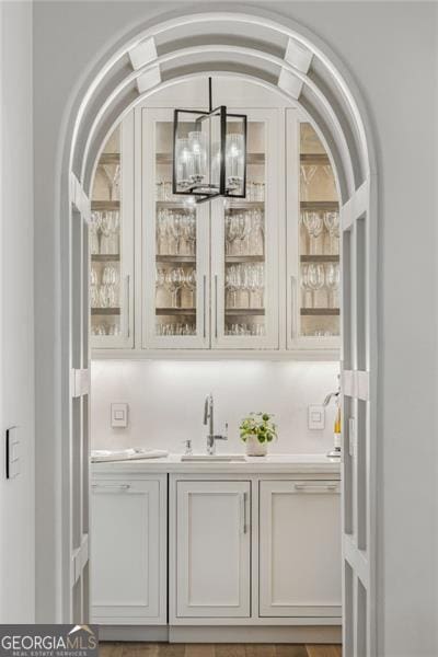
[[[328,153],[293,108],[229,112],[247,116],[244,198],[173,194],[171,107],[136,108],[105,143],[90,226],[94,349],[337,356],[339,205]],[[189,116],[180,124],[187,135]]]

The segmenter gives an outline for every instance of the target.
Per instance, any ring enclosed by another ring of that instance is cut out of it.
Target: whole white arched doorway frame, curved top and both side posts
[[[374,639],[374,399],[377,377],[376,178],[371,138],[351,81],[326,47],[304,30],[267,13],[199,12],[149,25],[122,49],[108,54],[80,107],[70,117],[61,210],[68,255],[64,284],[66,412],[62,468],[70,486],[64,494],[62,599],[65,618],[87,615],[88,445],[87,220],[93,165],[104,137],[142,99],[186,76],[214,70],[239,73],[279,90],[306,110],[319,127],[336,168],[343,224],[343,394],[344,394],[344,644],[372,654]],[[71,376],[71,371],[73,376]],[[76,515],[77,514],[77,515]],[[72,520],[72,522],[71,522]],[[72,593],[72,591],[76,592]],[[79,591],[79,592],[78,592]],[[79,607],[78,607],[79,604]]]

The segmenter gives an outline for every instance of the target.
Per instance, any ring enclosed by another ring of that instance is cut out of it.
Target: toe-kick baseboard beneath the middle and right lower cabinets
[[[308,626],[175,626],[169,627],[170,643],[313,643],[342,642],[341,625]]]

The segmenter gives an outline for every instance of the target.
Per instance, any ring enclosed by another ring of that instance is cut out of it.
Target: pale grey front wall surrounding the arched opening
[[[214,9],[219,5],[224,3],[212,3]],[[106,2],[104,10],[102,2],[35,4],[37,346],[38,376],[44,377],[37,406],[38,440],[46,442],[43,458],[59,441],[47,418],[56,407],[60,368],[60,353],[54,354],[60,306],[54,188],[64,113],[90,62],[152,14],[182,7],[184,2],[114,1]],[[194,4],[188,7],[192,11]],[[266,7],[325,39],[348,66],[373,124],[380,174],[378,654],[433,657],[438,654],[437,164],[433,148],[437,7],[416,1],[330,0],[266,2]],[[54,308],[45,307],[46,299],[53,298]],[[42,470],[42,482],[44,474],[47,471]]]

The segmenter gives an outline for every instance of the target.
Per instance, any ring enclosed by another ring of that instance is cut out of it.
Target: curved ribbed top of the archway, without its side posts
[[[320,128],[347,198],[370,169],[356,100],[315,37],[270,16],[258,9],[181,14],[139,30],[108,54],[73,132],[71,168],[85,191],[105,137],[126,112],[181,78],[217,71],[260,81],[297,101]]]

